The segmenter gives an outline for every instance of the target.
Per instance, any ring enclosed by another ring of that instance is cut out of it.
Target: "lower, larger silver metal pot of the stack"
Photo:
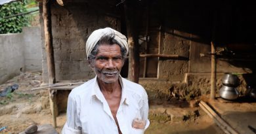
[[[237,99],[239,96],[239,92],[236,88],[230,87],[230,86],[222,86],[221,89],[219,90],[219,95],[223,99],[228,99],[228,100],[234,100]]]

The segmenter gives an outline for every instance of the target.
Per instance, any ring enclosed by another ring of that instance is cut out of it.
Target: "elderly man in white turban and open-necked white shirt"
[[[128,53],[126,37],[109,27],[98,29],[88,38],[86,53],[96,77],[68,96],[62,134],[144,133],[149,126],[148,95],[119,75]]]

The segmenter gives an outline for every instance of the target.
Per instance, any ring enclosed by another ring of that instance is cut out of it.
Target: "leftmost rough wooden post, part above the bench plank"
[[[45,29],[45,50],[47,54],[49,84],[54,84],[56,79],[53,54],[53,35],[51,29],[51,1],[49,0],[43,0],[43,22]]]

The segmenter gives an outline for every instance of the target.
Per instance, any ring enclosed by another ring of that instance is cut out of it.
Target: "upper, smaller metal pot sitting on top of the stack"
[[[224,86],[231,86],[231,87],[237,87],[240,84],[240,80],[239,80],[238,76],[232,75],[229,73],[226,73],[223,76],[222,82],[223,82]]]

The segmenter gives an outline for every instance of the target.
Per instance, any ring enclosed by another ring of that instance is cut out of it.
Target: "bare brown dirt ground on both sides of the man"
[[[13,84],[19,85],[18,90],[9,93],[5,97],[0,97],[0,128],[7,127],[0,131],[1,134],[20,133],[31,124],[52,124],[53,120],[49,109],[47,90],[31,90],[32,88],[39,87],[41,80],[41,72],[33,71],[21,73],[5,82],[5,84],[0,85],[0,91]],[[176,122],[170,120],[162,122],[161,120],[150,120],[150,127],[148,127],[145,133],[223,133],[207,114],[202,112],[202,110],[199,111],[200,115],[192,118],[192,120],[178,120]],[[179,113],[181,111],[177,109],[175,112]],[[60,113],[57,117],[58,127],[56,128],[59,133],[65,122],[66,114]]]

